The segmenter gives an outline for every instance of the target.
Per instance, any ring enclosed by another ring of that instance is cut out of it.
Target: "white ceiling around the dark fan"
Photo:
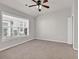
[[[46,5],[49,5],[50,8],[46,9],[42,7],[41,12],[39,12],[36,7],[29,8],[25,6],[25,4],[28,5],[35,4],[32,0],[0,0],[0,3],[3,3],[9,7],[12,7],[16,10],[19,10],[32,16],[37,16],[42,13],[72,7],[72,0],[48,0],[48,1],[49,2],[46,3]]]

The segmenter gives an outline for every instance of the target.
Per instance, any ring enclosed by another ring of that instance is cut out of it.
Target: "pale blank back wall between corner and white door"
[[[42,14],[36,19],[36,39],[67,42],[67,19],[71,8]]]

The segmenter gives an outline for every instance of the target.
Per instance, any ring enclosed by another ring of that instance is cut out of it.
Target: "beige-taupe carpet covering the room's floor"
[[[31,40],[1,51],[0,59],[77,59],[77,54],[68,44]]]

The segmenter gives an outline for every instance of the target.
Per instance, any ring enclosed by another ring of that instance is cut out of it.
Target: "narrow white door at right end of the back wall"
[[[73,44],[73,19],[68,18],[68,44]]]

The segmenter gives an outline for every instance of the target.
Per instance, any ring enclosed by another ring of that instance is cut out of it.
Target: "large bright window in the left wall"
[[[2,37],[21,37],[29,35],[29,20],[3,15]]]

